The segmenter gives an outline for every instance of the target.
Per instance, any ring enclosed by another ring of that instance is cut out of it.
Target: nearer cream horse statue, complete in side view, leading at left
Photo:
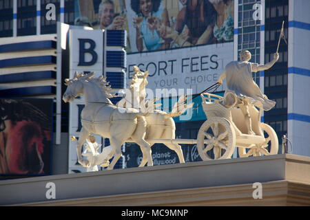
[[[74,74],[74,78],[65,79],[68,88],[63,94],[64,102],[73,102],[77,96],[84,96],[85,107],[81,112],[82,129],[79,142],[76,144],[78,161],[83,166],[90,166],[87,159],[83,159],[81,148],[90,133],[110,138],[113,147],[109,157],[113,155],[111,164],[107,169],[113,169],[114,165],[121,157],[121,145],[128,139],[136,142],[141,147],[143,161],[140,166],[153,166],[152,151],[149,143],[145,141],[146,121],[143,113],[136,109],[119,109],[109,98],[114,95],[109,94],[110,87],[103,76],[94,78],[94,72],[84,74]],[[118,111],[121,110],[121,111]],[[122,112],[122,113],[121,113]]]

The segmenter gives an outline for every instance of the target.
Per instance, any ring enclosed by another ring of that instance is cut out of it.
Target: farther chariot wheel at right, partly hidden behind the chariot
[[[254,146],[251,146],[249,151],[246,151],[246,148],[238,147],[239,157],[249,157],[251,155],[258,157],[260,155],[275,155],[278,153],[279,142],[276,131],[265,123],[260,124],[260,129],[264,133],[265,142],[253,144]]]

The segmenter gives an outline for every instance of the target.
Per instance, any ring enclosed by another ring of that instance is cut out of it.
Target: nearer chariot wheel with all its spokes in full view
[[[197,148],[201,159],[230,158],[234,153],[235,144],[235,130],[225,118],[214,117],[200,126],[197,135]]]

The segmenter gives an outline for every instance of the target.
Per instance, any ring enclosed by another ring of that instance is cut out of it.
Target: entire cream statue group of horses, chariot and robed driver
[[[223,98],[219,97],[218,101],[211,101],[211,94],[207,94],[209,99],[203,98],[203,95],[206,94],[201,94],[204,110],[211,106],[217,108],[217,104],[220,104],[220,108],[228,109],[228,114],[230,114],[226,118],[222,117],[222,119],[214,120],[214,117],[221,118],[218,117],[220,111],[216,110],[215,115],[210,115],[207,112],[208,110],[205,110],[207,121],[212,123],[203,124],[199,131],[201,135],[199,136],[198,133],[196,140],[202,159],[231,157],[232,148],[235,147],[232,145],[238,144],[238,140],[242,138],[247,139],[249,143],[246,144],[247,146],[242,146],[242,144],[245,144],[244,142],[237,145],[240,148],[243,147],[242,151],[239,151],[240,156],[268,155],[276,151],[274,147],[271,147],[271,150],[266,149],[269,142],[274,142],[274,138],[271,137],[274,135],[274,131],[266,131],[264,126],[260,126],[260,119],[253,118],[251,115],[252,112],[255,115],[256,111],[259,113],[263,110],[268,111],[275,105],[275,102],[262,94],[258,85],[252,79],[251,72],[269,69],[278,60],[278,54],[275,54],[273,61],[266,65],[250,63],[250,59],[250,52],[242,51],[240,61],[233,61],[226,66],[225,72],[217,82],[222,84],[223,79],[226,78],[227,89]],[[85,107],[81,112],[83,127],[79,140],[76,140],[75,137],[72,137],[72,140],[77,141],[76,153],[79,163],[87,167],[88,171],[98,170],[98,165],[113,169],[121,157],[121,146],[124,142],[135,142],[140,146],[143,159],[139,166],[145,166],[145,164],[153,166],[151,147],[155,143],[165,144],[176,152],[180,163],[185,162],[182,148],[178,143],[186,143],[186,141],[175,140],[176,125],[173,118],[183,114],[188,108],[192,107],[193,103],[185,104],[187,97],[182,96],[174,104],[171,112],[166,113],[156,109],[161,104],[156,104],[156,100],[145,100],[147,96],[145,92],[147,76],[147,72],[141,72],[138,67],[134,67],[134,74],[128,88],[132,95],[125,96],[117,104],[112,104],[110,101],[114,94],[111,93],[112,89],[103,76],[94,77],[94,72],[90,74],[75,73],[72,79],[65,79],[65,85],[68,88],[63,94],[63,101],[73,102],[74,98],[78,96],[84,96],[85,99]],[[255,107],[260,111],[253,110]],[[234,116],[234,113],[231,116],[231,112],[234,112],[233,109],[239,109],[240,112],[238,110],[239,113],[236,116]],[[240,129],[242,126],[238,127],[239,120],[245,122],[245,129]],[[225,126],[227,123],[229,123],[229,126]],[[258,129],[256,129],[257,125]],[[229,130],[231,128],[233,131]],[[237,130],[240,130],[240,132]],[[263,131],[266,131],[269,137],[265,138]],[[231,133],[235,134],[237,141],[231,140],[231,138],[234,139],[234,137],[231,137]],[[109,138],[111,145],[103,148],[103,151],[99,153],[100,145],[96,143],[92,134]],[[260,141],[258,141],[258,136],[260,136]],[[242,138],[238,139],[238,137]],[[256,142],[251,143],[249,137],[254,137],[254,139],[257,137]],[[83,144],[86,149],[82,154]],[[245,148],[250,148],[251,151],[246,152]],[[112,159],[111,163],[109,162],[110,159]]]

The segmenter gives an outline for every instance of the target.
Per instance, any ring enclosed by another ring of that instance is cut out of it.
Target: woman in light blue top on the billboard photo
[[[169,48],[169,39],[162,39],[158,31],[160,25],[170,27],[167,9],[161,0],[131,0],[131,8],[136,13],[133,19],[136,28],[136,48],[154,51]]]

